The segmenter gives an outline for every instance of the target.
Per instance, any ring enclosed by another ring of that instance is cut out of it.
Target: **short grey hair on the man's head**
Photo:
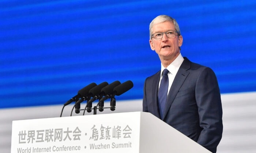
[[[149,36],[150,36],[150,39],[152,39],[151,35],[152,35],[152,27],[155,25],[155,24],[158,24],[158,23],[163,23],[165,21],[172,21],[174,26],[175,26],[175,30],[178,32],[178,35],[180,36],[181,33],[180,33],[180,27],[177,23],[177,21],[175,19],[173,19],[172,17],[168,16],[168,15],[159,15],[157,16],[155,19],[153,19],[149,25]]]

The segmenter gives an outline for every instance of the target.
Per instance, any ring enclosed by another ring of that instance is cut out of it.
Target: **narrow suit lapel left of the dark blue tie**
[[[158,86],[159,86],[159,80],[160,80],[160,73],[161,71],[157,72],[157,74],[155,74],[155,78],[153,79],[153,85],[152,85],[152,97],[154,99],[153,100],[153,109],[154,109],[154,114],[156,117],[161,118],[160,117],[160,112],[159,112],[159,106],[158,106],[158,97],[157,97],[157,93],[158,93]]]

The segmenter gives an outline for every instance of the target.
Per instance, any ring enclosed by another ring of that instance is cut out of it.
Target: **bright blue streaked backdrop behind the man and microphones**
[[[256,1],[2,0],[0,108],[63,104],[95,82],[131,80],[142,99],[161,65],[149,24],[170,15],[181,54],[211,67],[221,93],[256,91]]]

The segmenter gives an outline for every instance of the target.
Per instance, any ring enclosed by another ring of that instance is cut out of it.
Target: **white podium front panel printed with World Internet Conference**
[[[11,153],[119,153],[139,150],[138,113],[12,122]]]

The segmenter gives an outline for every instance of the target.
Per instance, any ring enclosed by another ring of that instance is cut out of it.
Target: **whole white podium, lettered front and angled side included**
[[[12,122],[11,153],[210,153],[145,112]]]

